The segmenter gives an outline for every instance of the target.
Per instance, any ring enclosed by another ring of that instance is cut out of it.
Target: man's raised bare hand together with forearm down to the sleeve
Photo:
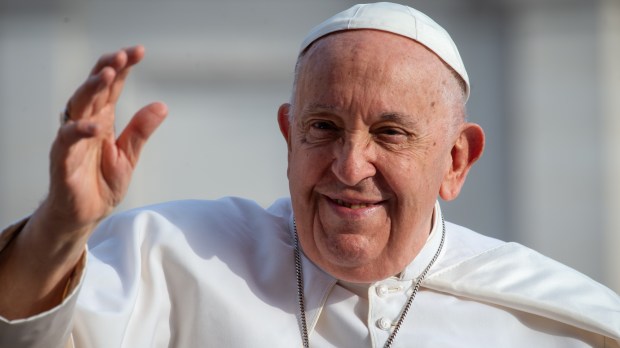
[[[57,304],[90,233],[127,192],[143,145],[167,114],[163,103],[149,104],[116,137],[116,102],[143,57],[141,46],[102,56],[69,99],[50,153],[49,194],[0,253],[0,284],[12,284],[0,287],[0,315]]]

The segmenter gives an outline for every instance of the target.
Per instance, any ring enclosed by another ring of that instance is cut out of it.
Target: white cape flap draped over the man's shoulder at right
[[[445,246],[428,288],[620,338],[620,298],[576,270],[453,224]]]

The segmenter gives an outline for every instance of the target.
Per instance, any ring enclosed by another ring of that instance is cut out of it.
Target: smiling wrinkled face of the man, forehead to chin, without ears
[[[343,280],[394,275],[428,238],[451,165],[448,70],[413,40],[372,30],[323,38],[301,64],[283,132],[304,253]]]

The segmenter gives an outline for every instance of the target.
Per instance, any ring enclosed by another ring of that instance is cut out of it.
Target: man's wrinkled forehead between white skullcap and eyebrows
[[[336,32],[300,59],[295,111],[430,117],[449,107],[446,85],[461,91],[456,81],[444,62],[411,39],[366,29]]]

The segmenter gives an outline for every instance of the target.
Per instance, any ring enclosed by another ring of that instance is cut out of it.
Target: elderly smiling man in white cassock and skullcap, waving
[[[0,346],[620,347],[613,291],[444,221],[437,197],[459,194],[484,134],[465,120],[458,51],[424,14],[358,5],[310,32],[278,111],[290,200],[100,223],[166,115],[148,105],[115,138],[143,55],[95,65],[68,103],[47,199],[1,236]]]

